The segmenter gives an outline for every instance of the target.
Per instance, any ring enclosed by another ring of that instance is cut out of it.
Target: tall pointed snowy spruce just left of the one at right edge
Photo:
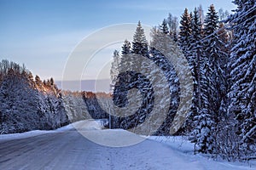
[[[218,14],[214,6],[211,5],[204,27],[203,54],[200,61],[200,100],[202,104],[199,115],[196,116],[199,126],[195,127],[198,150],[204,153],[213,150],[213,131],[216,127],[215,123],[219,122],[220,107],[227,92],[224,67],[227,65],[228,55],[222,51],[225,44],[220,41],[217,29]]]

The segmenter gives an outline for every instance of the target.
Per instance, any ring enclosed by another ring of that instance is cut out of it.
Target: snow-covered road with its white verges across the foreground
[[[116,143],[135,135],[102,129],[101,123],[92,121],[82,125],[83,132]],[[81,127],[81,122],[55,131],[0,135],[0,169],[255,169],[194,156],[193,144],[180,138],[150,137],[131,146],[108,147],[84,138],[73,126]]]

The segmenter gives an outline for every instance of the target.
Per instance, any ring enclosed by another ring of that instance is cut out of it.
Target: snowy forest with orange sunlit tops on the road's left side
[[[38,76],[33,77],[24,65],[8,60],[0,62],[0,85],[1,134],[49,130],[84,119],[106,117],[95,94],[61,91],[53,78],[42,81]]]

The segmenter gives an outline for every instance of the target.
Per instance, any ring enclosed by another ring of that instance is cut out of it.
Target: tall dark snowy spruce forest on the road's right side
[[[191,12],[185,8],[180,21],[169,14],[160,26],[153,27],[151,42],[147,41],[143,26],[138,22],[133,41],[125,40],[121,51],[113,52],[110,71],[113,100],[120,107],[126,105],[127,92],[131,88],[149,95],[143,94],[144,105],[135,115],[116,118],[119,127],[130,129],[137,126],[154,107],[148,102],[154,99],[154,95],[143,91],[148,79],[130,71],[137,69],[132,65],[141,65],[154,75],[154,70],[150,70],[152,65],[145,65],[135,58],[135,54],[139,54],[153,59],[154,64],[165,69],[167,79],[171,80],[166,88],[170,88],[173,102],[165,122],[154,134],[169,133],[175,116],[173,113],[180,105],[180,89],[175,81],[180,77],[173,72],[172,65],[165,62],[164,54],[180,48],[189,63],[194,91],[189,114],[183,127],[175,134],[189,136],[195,143],[195,152],[212,154],[228,161],[255,156],[255,1],[235,1],[235,4],[236,11],[230,15],[223,9],[217,12],[213,5],[207,9],[206,16],[201,7]],[[167,38],[172,40],[166,41]]]

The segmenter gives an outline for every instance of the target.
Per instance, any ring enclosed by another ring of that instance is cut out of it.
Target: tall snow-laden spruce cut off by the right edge
[[[236,13],[228,20],[234,32],[229,112],[236,115],[240,144],[248,152],[256,142],[256,6],[254,0],[236,0],[234,3]]]

